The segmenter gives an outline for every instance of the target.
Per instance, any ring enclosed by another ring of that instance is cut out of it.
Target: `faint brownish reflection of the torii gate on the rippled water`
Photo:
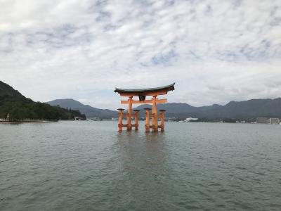
[[[117,140],[124,174],[117,181],[117,187],[123,186],[130,192],[126,202],[128,208],[144,207],[145,204],[153,208],[153,205],[163,203],[163,194],[169,189],[169,182],[166,182],[169,167],[166,166],[165,134],[131,131],[117,134]]]

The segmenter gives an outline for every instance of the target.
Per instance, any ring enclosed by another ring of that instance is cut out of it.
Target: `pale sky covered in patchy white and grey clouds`
[[[119,106],[176,82],[192,106],[281,96],[281,1],[0,0],[0,80],[34,101]]]

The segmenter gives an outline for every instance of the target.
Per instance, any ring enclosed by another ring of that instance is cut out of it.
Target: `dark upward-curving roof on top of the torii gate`
[[[147,88],[147,89],[120,89],[120,88],[115,88],[115,92],[119,94],[131,94],[134,96],[139,96],[139,95],[152,95],[153,93],[161,93],[161,94],[166,94],[168,91],[174,90],[174,84],[169,84],[164,87],[155,87],[155,88]]]

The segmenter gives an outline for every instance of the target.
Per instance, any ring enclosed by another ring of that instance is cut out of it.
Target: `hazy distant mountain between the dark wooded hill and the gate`
[[[93,108],[89,105],[84,105],[79,101],[75,101],[74,99],[57,99],[46,103],[51,106],[79,110],[81,113],[84,113],[86,117],[99,117],[102,119],[118,117],[118,112],[115,110]]]

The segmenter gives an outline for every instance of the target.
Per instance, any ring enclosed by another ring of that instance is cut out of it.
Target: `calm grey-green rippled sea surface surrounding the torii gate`
[[[0,124],[0,210],[281,210],[281,125]]]

